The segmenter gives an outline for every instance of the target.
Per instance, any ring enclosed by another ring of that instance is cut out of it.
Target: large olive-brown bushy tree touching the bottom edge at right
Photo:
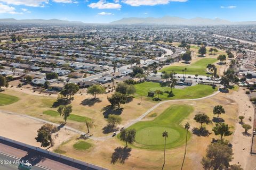
[[[206,149],[206,156],[203,157],[201,164],[207,170],[227,169],[232,159],[232,148],[221,143],[211,143]]]

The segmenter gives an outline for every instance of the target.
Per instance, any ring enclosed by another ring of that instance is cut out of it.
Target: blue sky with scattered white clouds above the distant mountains
[[[256,1],[246,0],[0,0],[0,18],[108,23],[124,17],[220,18],[256,21]]]

